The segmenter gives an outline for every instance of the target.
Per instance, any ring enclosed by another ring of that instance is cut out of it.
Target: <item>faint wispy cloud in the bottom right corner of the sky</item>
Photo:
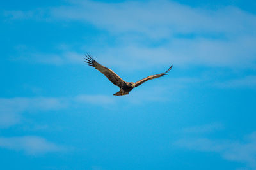
[[[182,138],[173,143],[175,146],[200,152],[216,152],[223,159],[243,162],[247,167],[256,168],[256,132],[243,140],[209,139],[201,137]]]

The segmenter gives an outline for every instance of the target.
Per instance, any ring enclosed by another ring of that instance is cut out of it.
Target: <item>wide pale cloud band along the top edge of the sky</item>
[[[51,8],[52,17],[90,22],[111,32],[136,31],[152,37],[175,32],[254,32],[255,16],[228,6],[218,10],[191,8],[172,1],[100,3],[70,1]]]

